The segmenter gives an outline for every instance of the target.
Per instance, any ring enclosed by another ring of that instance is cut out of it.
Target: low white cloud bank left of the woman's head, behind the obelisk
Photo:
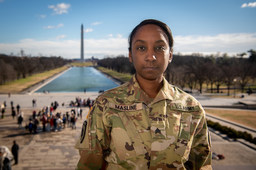
[[[81,40],[45,40],[37,41],[33,39],[23,39],[18,43],[3,44],[0,43],[2,54],[17,54],[23,49],[26,54],[31,56],[62,56],[63,58],[80,58]],[[108,38],[108,39],[84,39],[84,58],[103,58],[106,55],[127,55],[126,38]]]

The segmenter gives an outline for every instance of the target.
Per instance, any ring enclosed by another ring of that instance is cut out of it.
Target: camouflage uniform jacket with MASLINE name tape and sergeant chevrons
[[[76,169],[212,169],[205,111],[179,88],[151,99],[136,74],[95,99],[75,148]]]

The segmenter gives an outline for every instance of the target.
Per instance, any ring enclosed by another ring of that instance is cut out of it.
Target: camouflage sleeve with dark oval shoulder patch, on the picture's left
[[[105,152],[109,148],[109,130],[105,129],[102,121],[103,106],[96,101],[93,109],[89,112],[85,135],[82,132],[75,145],[79,149],[80,159],[76,169],[101,169]],[[83,131],[83,130],[82,130]],[[81,138],[83,140],[81,140]]]

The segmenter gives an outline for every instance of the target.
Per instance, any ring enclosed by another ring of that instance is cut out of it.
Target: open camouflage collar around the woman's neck
[[[154,99],[154,103],[169,99],[174,100],[174,93],[172,86],[169,85],[167,80],[163,77],[163,87],[157,94],[156,98]],[[127,85],[127,100],[130,102],[142,102],[146,105],[149,105],[151,103],[151,99],[148,97],[148,95],[140,88],[140,85],[137,82],[136,79],[136,73],[133,75],[131,80],[128,82]],[[152,103],[153,104],[153,103]]]

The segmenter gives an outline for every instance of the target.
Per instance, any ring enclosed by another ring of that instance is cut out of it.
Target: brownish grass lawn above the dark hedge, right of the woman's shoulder
[[[254,111],[228,111],[228,110],[205,110],[209,115],[222,117],[233,122],[256,128],[256,112]]]

